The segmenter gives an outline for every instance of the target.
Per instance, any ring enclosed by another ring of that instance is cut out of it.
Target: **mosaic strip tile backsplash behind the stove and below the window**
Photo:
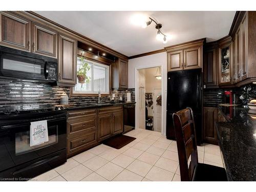
[[[128,89],[128,91],[131,92],[131,100],[135,101],[135,90]],[[0,78],[0,112],[51,108],[60,104],[60,96],[63,92],[69,96],[69,104],[79,105],[98,101],[98,97],[94,96],[71,97],[70,89],[67,87],[52,86],[34,80]],[[120,95],[124,95],[126,101],[125,92],[125,90],[113,90],[115,101],[119,100]],[[109,98],[102,96],[100,99],[101,102],[105,102]]]

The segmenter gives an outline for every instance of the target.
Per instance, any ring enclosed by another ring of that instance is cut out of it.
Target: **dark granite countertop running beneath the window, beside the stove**
[[[65,106],[67,110],[80,110],[80,109],[92,109],[92,108],[103,108],[105,106],[119,106],[127,104],[135,104],[136,102],[108,102],[108,103],[81,103],[76,105]]]

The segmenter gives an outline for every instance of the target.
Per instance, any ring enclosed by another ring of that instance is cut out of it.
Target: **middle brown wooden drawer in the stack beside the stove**
[[[69,123],[68,136],[79,134],[81,132],[89,132],[96,129],[96,117],[90,118],[85,121]]]

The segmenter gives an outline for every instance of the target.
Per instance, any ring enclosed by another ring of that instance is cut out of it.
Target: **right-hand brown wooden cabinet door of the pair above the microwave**
[[[57,58],[57,33],[33,24],[32,52]]]

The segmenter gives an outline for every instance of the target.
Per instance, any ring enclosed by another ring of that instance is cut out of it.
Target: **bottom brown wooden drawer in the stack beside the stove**
[[[79,138],[68,138],[68,154],[89,147],[97,141],[96,131],[83,135]]]

